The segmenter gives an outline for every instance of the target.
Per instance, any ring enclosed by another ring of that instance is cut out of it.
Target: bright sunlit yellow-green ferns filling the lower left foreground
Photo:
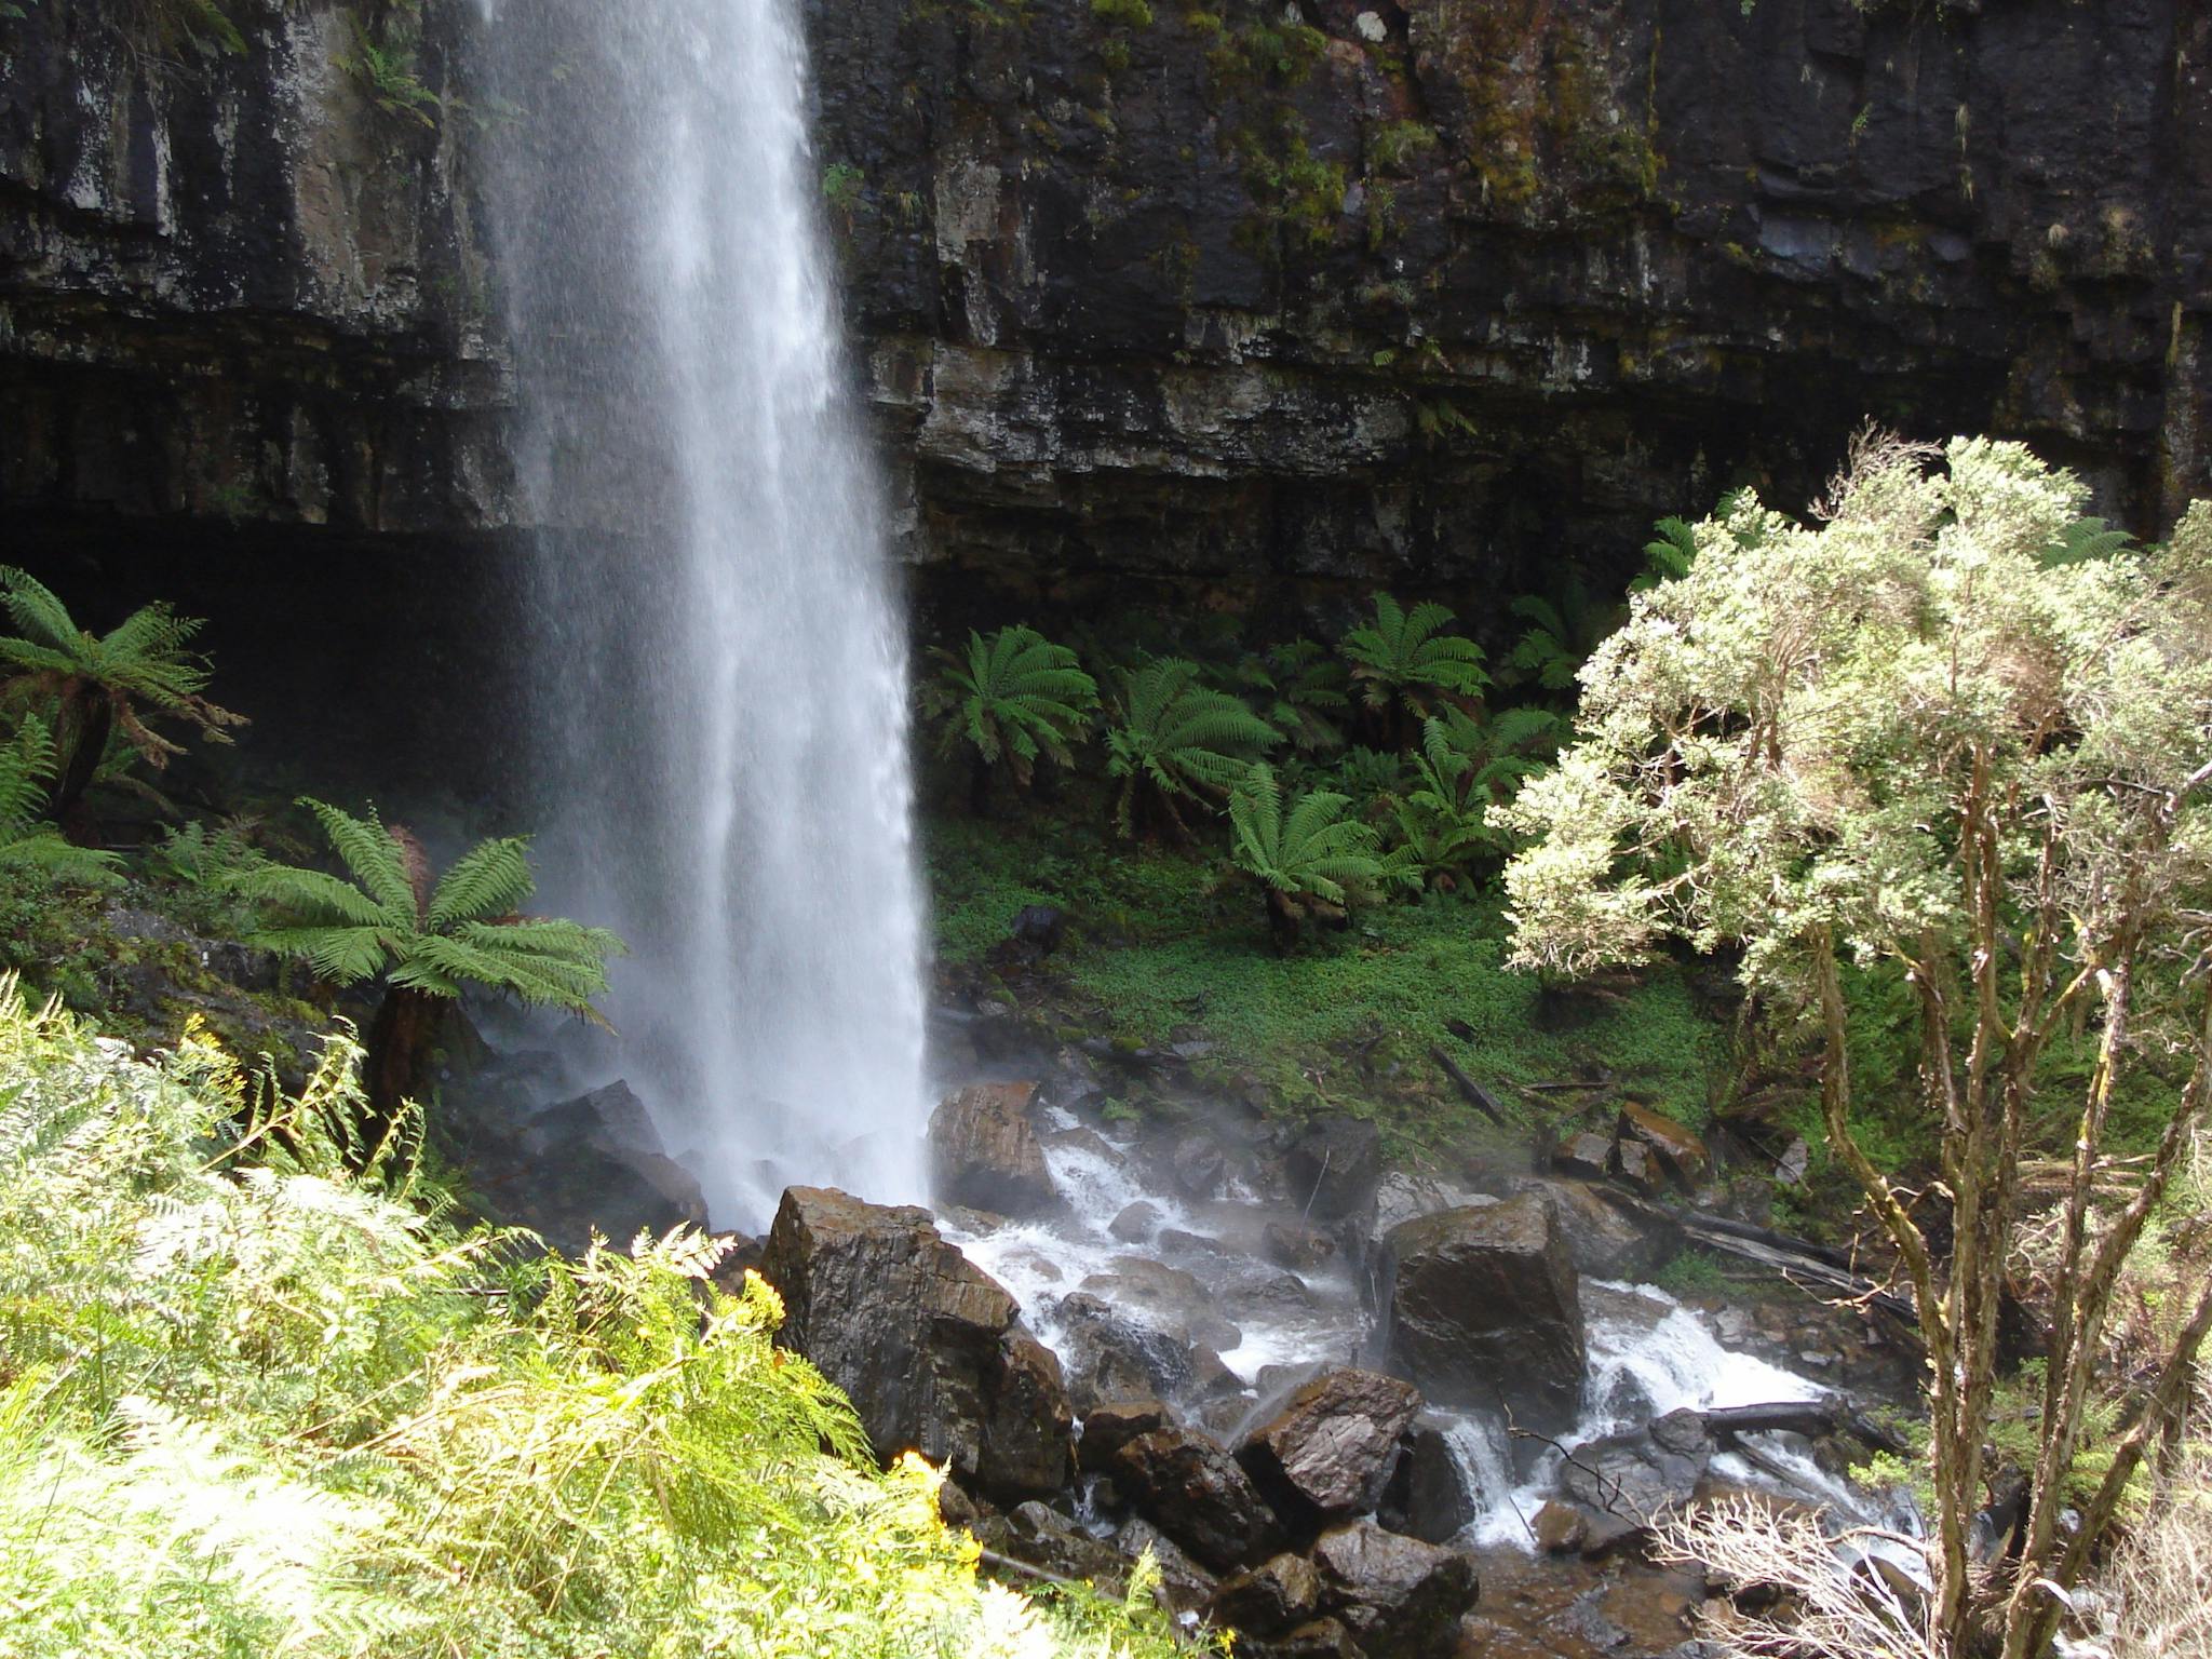
[[[453,1225],[354,1060],[257,1113],[0,978],[0,1655],[1188,1652],[980,1582],[719,1245]]]

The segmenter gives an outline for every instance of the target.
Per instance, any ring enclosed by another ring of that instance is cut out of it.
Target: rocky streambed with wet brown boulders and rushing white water
[[[1192,1060],[1000,1046],[929,1124],[933,1210],[794,1186],[728,1265],[885,1458],[947,1471],[993,1571],[1121,1590],[1150,1553],[1263,1659],[1630,1659],[1694,1641],[1708,1584],[1646,1548],[1690,1500],[1911,1524],[1843,1473],[1880,1438],[1860,1407],[1909,1391],[1905,1334],[1776,1276],[1650,1283],[1730,1225],[1686,1128],[1624,1102],[1411,1172]],[[703,1217],[619,1084],[544,1108],[542,1068],[489,1075],[453,1121],[513,1219],[580,1248]]]

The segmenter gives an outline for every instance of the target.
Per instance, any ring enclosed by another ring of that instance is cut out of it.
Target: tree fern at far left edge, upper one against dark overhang
[[[155,730],[159,717],[190,723],[201,737],[228,743],[226,728],[241,714],[206,697],[210,670],[190,646],[197,617],[166,604],[133,611],[106,637],[86,633],[51,588],[27,571],[0,566],[0,611],[15,637],[0,637],[0,690],[9,701],[51,714],[55,743],[66,752],[55,770],[51,812],[75,812],[100,772],[108,741],[159,770],[184,745]]]

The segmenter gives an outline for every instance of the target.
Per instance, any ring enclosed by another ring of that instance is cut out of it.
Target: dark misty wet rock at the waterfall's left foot
[[[515,1212],[557,1250],[580,1254],[591,1234],[628,1243],[706,1225],[699,1181],[661,1150],[646,1106],[624,1082],[546,1106],[522,1128]]]

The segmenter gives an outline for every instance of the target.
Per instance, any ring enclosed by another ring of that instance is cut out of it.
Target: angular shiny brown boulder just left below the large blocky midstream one
[[[1301,1387],[1241,1447],[1237,1462],[1301,1533],[1365,1515],[1398,1467],[1398,1438],[1420,1394],[1380,1371],[1327,1371]]]

